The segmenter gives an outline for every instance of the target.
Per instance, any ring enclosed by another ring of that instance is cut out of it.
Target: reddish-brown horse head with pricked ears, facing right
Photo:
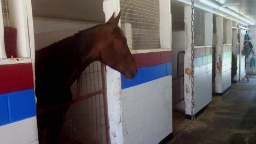
[[[100,61],[110,68],[119,71],[126,79],[132,79],[137,73],[135,59],[132,57],[123,31],[118,26],[120,13],[114,14],[104,23]]]

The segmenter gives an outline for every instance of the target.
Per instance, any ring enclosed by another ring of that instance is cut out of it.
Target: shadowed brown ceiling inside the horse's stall
[[[104,22],[103,0],[32,0],[33,16]]]

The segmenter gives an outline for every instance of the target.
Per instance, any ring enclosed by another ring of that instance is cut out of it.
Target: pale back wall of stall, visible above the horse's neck
[[[100,23],[34,17],[35,49],[39,50],[56,41],[69,37],[82,29]]]

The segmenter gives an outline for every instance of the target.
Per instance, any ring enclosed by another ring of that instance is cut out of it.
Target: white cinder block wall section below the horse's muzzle
[[[159,143],[172,133],[172,76],[122,90],[124,143]]]

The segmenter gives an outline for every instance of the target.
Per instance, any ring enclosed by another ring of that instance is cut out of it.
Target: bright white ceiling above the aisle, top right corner
[[[256,23],[256,1],[255,0],[212,0],[223,7],[234,10]]]

